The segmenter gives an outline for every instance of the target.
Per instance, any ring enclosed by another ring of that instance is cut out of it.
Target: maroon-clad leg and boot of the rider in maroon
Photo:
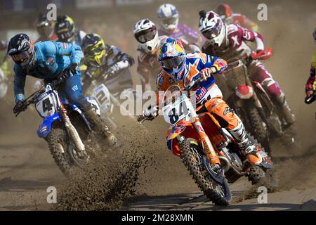
[[[280,112],[284,116],[284,120],[287,124],[291,125],[295,122],[295,116],[289,107],[289,104],[285,100],[285,95],[283,91],[279,88],[279,84],[275,82],[272,75],[265,69],[261,63],[256,63],[256,65],[251,65],[249,67],[249,72],[252,75],[252,79],[262,84],[265,91],[274,101],[279,108]]]

